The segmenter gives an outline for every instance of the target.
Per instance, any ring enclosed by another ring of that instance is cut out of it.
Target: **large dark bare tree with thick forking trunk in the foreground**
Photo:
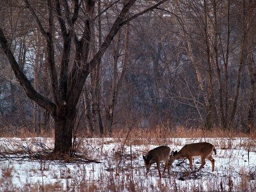
[[[72,130],[76,119],[76,106],[83,90],[84,82],[93,68],[100,62],[116,33],[130,20],[164,3],[164,1],[159,1],[150,6],[150,8],[127,17],[127,12],[129,12],[135,2],[136,0],[129,0],[122,6],[122,10],[116,16],[115,22],[111,26],[102,45],[100,45],[99,50],[95,53],[92,60],[88,60],[90,43],[92,42],[91,26],[94,20],[95,1],[74,0],[72,4],[69,4],[68,1],[47,0],[45,4],[47,17],[40,18],[38,15],[40,10],[36,10],[35,4],[24,0],[26,8],[28,8],[36,22],[37,28],[46,41],[46,62],[51,80],[50,86],[53,100],[49,100],[44,95],[36,92],[28,77],[20,69],[18,61],[13,56],[10,43],[4,35],[3,27],[0,28],[0,43],[15,76],[19,79],[28,97],[49,111],[52,118],[54,118],[55,143],[53,154],[55,157],[72,154]],[[83,13],[83,18],[80,19]],[[83,26],[83,29],[77,31],[76,28],[80,24]],[[63,47],[61,50],[60,72],[58,72],[55,59],[54,43],[56,33],[59,33],[61,36]],[[71,58],[72,51],[74,51],[74,58]],[[71,70],[69,70],[70,68]]]

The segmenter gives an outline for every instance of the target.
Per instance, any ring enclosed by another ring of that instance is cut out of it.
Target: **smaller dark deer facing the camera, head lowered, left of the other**
[[[146,170],[147,170],[145,175],[148,174],[150,166],[153,163],[156,163],[159,177],[161,178],[161,172],[160,172],[160,162],[161,161],[164,161],[163,173],[166,170],[166,168],[168,169],[168,173],[169,173],[170,169],[169,169],[169,165],[168,165],[168,159],[170,156],[170,151],[171,151],[170,147],[160,146],[160,147],[150,150],[146,156],[143,156],[144,164],[145,164]]]

